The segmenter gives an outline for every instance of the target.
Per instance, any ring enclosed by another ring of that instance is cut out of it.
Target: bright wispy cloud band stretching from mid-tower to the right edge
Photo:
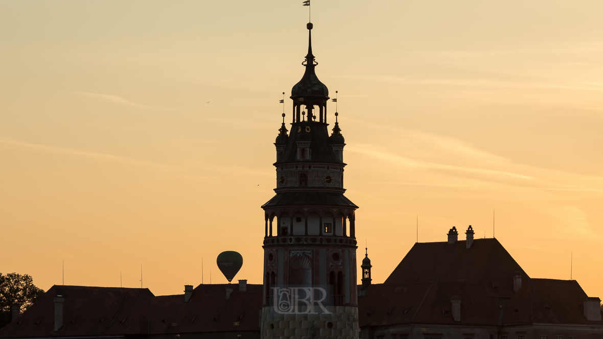
[[[490,190],[515,187],[526,197],[541,197],[546,191],[553,195],[558,192],[560,197],[570,197],[567,194],[573,192],[576,197],[603,198],[603,176],[515,163],[445,135],[371,123],[364,123],[364,126],[391,131],[390,135],[395,134],[397,138],[385,146],[356,143],[347,146],[347,151],[387,164],[387,167],[393,166],[397,172],[408,173],[400,176],[406,184],[453,184],[478,189],[488,186]]]

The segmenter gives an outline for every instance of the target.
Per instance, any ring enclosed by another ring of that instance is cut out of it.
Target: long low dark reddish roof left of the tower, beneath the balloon
[[[226,287],[233,292],[226,299]],[[65,298],[63,327],[54,332],[54,297]],[[258,331],[262,285],[198,285],[183,294],[154,296],[148,288],[54,285],[0,338]],[[236,324],[236,325],[235,325]]]

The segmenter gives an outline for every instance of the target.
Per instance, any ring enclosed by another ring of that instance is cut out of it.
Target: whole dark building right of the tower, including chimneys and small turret
[[[601,300],[577,281],[531,278],[495,238],[466,235],[415,243],[383,284],[363,281],[361,338],[603,339]]]

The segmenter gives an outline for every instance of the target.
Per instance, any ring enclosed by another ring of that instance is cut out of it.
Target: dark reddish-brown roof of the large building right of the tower
[[[522,286],[516,293],[517,274]],[[461,299],[460,322],[452,317],[451,299]],[[529,278],[496,239],[476,239],[469,249],[466,241],[416,243],[384,284],[358,296],[358,316],[360,326],[603,325],[586,320],[586,299],[576,281]]]

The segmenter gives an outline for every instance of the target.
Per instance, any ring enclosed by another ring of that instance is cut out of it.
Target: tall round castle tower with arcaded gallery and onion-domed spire
[[[358,338],[358,206],[344,196],[346,143],[337,121],[329,135],[329,90],[315,73],[312,23],[308,30],[306,70],[291,90],[291,132],[283,114],[274,143],[276,195],[262,206],[261,337]]]

